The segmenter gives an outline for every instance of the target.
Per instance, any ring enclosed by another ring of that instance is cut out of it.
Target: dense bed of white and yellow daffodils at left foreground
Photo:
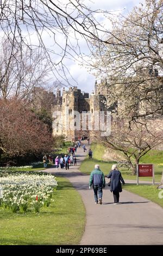
[[[0,177],[0,205],[12,212],[39,212],[42,206],[49,206],[56,187],[53,175],[5,172]]]

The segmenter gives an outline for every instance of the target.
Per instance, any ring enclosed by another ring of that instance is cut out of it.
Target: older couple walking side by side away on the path
[[[118,204],[120,200],[120,192],[122,192],[122,186],[125,182],[122,178],[121,172],[117,169],[117,164],[113,164],[111,172],[108,175],[104,175],[100,170],[99,165],[95,164],[95,169],[92,170],[90,175],[89,188],[93,187],[95,204],[102,204],[103,188],[105,188],[105,177],[110,179],[110,191],[114,197],[114,204]]]

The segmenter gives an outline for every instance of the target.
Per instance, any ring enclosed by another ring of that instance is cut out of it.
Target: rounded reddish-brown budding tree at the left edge
[[[53,137],[23,100],[0,100],[0,153],[13,159],[52,150]]]

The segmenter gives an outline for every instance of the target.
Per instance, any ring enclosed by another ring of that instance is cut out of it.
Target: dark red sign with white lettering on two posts
[[[154,185],[154,168],[153,164],[136,164],[137,185],[139,184],[139,177],[152,177],[152,184]]]

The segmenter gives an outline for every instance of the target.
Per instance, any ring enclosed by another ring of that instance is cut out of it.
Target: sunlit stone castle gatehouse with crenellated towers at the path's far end
[[[94,114],[105,111],[105,95],[99,92],[97,82],[95,93],[90,95],[77,87],[70,87],[67,91],[64,88],[62,95],[58,89],[52,104],[53,134],[65,135],[68,141],[82,136],[90,137],[91,132],[96,130]],[[92,129],[88,127],[89,122]]]

